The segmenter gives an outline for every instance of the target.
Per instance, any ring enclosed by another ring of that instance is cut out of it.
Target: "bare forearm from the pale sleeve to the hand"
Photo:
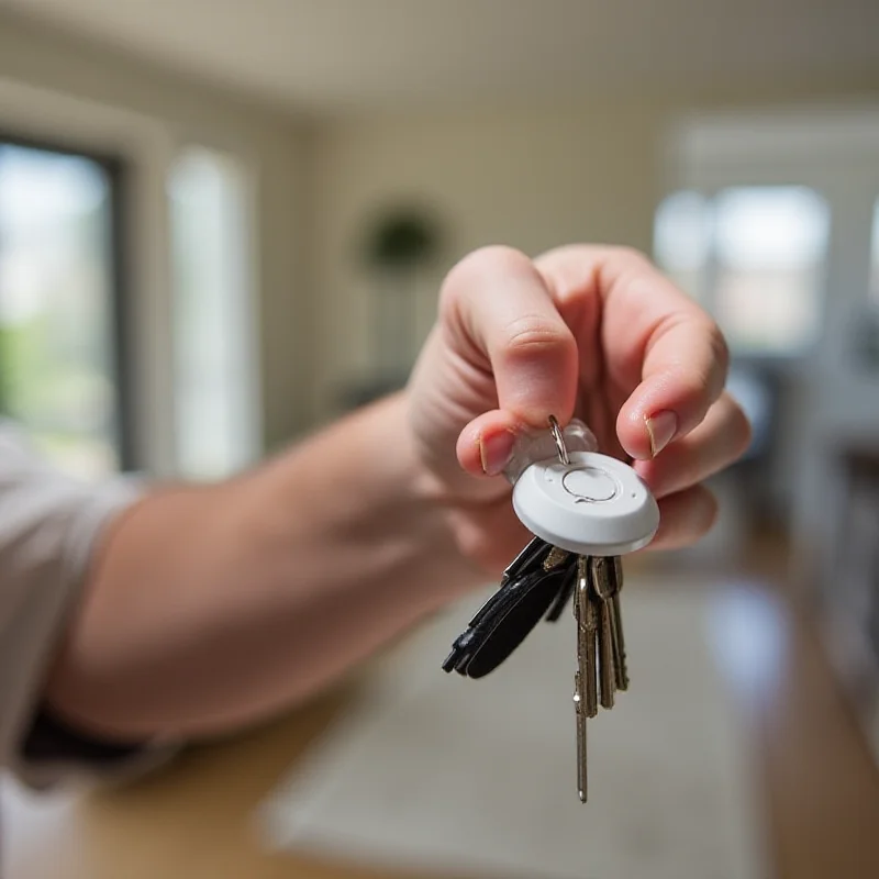
[[[404,398],[111,528],[48,698],[96,732],[199,735],[312,693],[476,586]]]

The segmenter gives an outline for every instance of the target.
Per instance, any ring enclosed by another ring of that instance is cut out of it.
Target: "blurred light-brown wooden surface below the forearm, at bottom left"
[[[4,790],[7,879],[379,879],[272,854],[256,826],[258,804],[348,697],[340,691],[263,728],[192,748],[118,789],[49,797]]]

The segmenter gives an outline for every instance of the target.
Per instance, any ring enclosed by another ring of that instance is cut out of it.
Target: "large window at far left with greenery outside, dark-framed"
[[[0,140],[0,411],[86,478],[125,465],[119,170]]]

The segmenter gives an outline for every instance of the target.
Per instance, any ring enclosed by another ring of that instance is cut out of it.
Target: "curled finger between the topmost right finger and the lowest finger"
[[[705,420],[657,458],[635,469],[654,496],[664,498],[694,486],[737,460],[750,444],[750,424],[728,393],[721,396]]]

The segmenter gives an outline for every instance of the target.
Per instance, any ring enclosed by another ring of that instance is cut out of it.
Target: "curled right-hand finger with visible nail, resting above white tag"
[[[596,319],[583,300],[601,302],[602,380],[635,387],[616,420],[625,452],[649,459],[692,431],[726,378],[726,344],[709,315],[627,248],[565,247],[536,265],[563,313],[579,312],[588,324]],[[594,360],[599,353],[581,357]]]

